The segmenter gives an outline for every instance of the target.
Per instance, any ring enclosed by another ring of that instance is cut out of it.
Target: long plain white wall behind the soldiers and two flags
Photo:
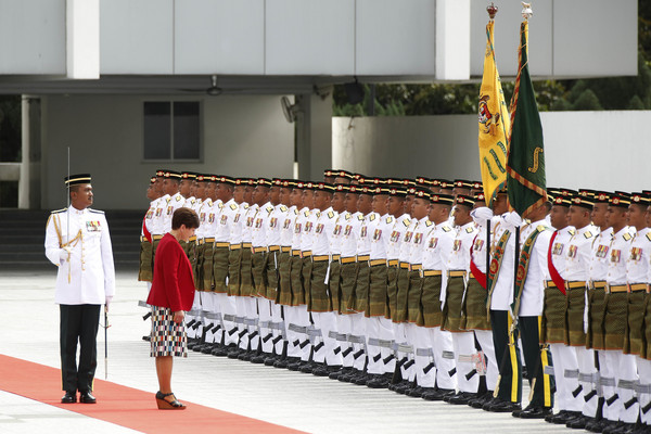
[[[541,113],[547,184],[651,189],[651,111]],[[369,176],[481,179],[476,115],[335,117],[332,166]]]

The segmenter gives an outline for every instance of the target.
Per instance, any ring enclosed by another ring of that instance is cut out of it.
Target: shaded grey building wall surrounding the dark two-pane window
[[[294,126],[279,95],[187,99],[201,101],[203,161],[142,161],[142,102],[124,95],[51,95],[42,100],[41,207],[65,206],[63,178],[90,173],[99,209],[139,209],[157,168],[232,176],[291,177]],[[178,101],[176,99],[175,101]]]

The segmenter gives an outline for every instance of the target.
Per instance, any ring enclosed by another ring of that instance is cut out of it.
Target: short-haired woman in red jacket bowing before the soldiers
[[[156,248],[154,279],[148,304],[152,306],[151,356],[156,358],[159,391],[156,404],[162,410],[183,410],[171,392],[173,357],[188,357],[183,318],[192,308],[194,278],[192,267],[179,241],[194,235],[199,217],[190,208],[178,208],[171,217],[171,231]]]

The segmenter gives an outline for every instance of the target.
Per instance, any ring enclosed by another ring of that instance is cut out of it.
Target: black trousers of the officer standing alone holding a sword
[[[92,391],[98,366],[98,328],[101,305],[60,305],[62,388],[75,393]],[[77,367],[77,342],[79,367]]]

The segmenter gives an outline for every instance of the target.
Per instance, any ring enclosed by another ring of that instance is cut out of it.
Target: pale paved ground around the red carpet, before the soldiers
[[[59,308],[53,303],[55,270],[0,271],[2,341],[0,353],[59,368]],[[117,276],[111,306],[108,381],[152,392],[157,390],[149,344],[138,307],[146,286],[136,272]],[[104,379],[104,335],[98,339],[97,376]],[[220,410],[310,433],[522,433],[570,432],[542,421],[487,413],[465,406],[429,403],[388,391],[375,391],[310,374],[190,353],[175,361],[177,396]],[[524,391],[526,396],[528,391]],[[59,397],[61,391],[52,391]],[[98,396],[98,399],[102,399]],[[152,405],[154,405],[152,396]],[[127,433],[130,430],[0,391],[0,432]]]

